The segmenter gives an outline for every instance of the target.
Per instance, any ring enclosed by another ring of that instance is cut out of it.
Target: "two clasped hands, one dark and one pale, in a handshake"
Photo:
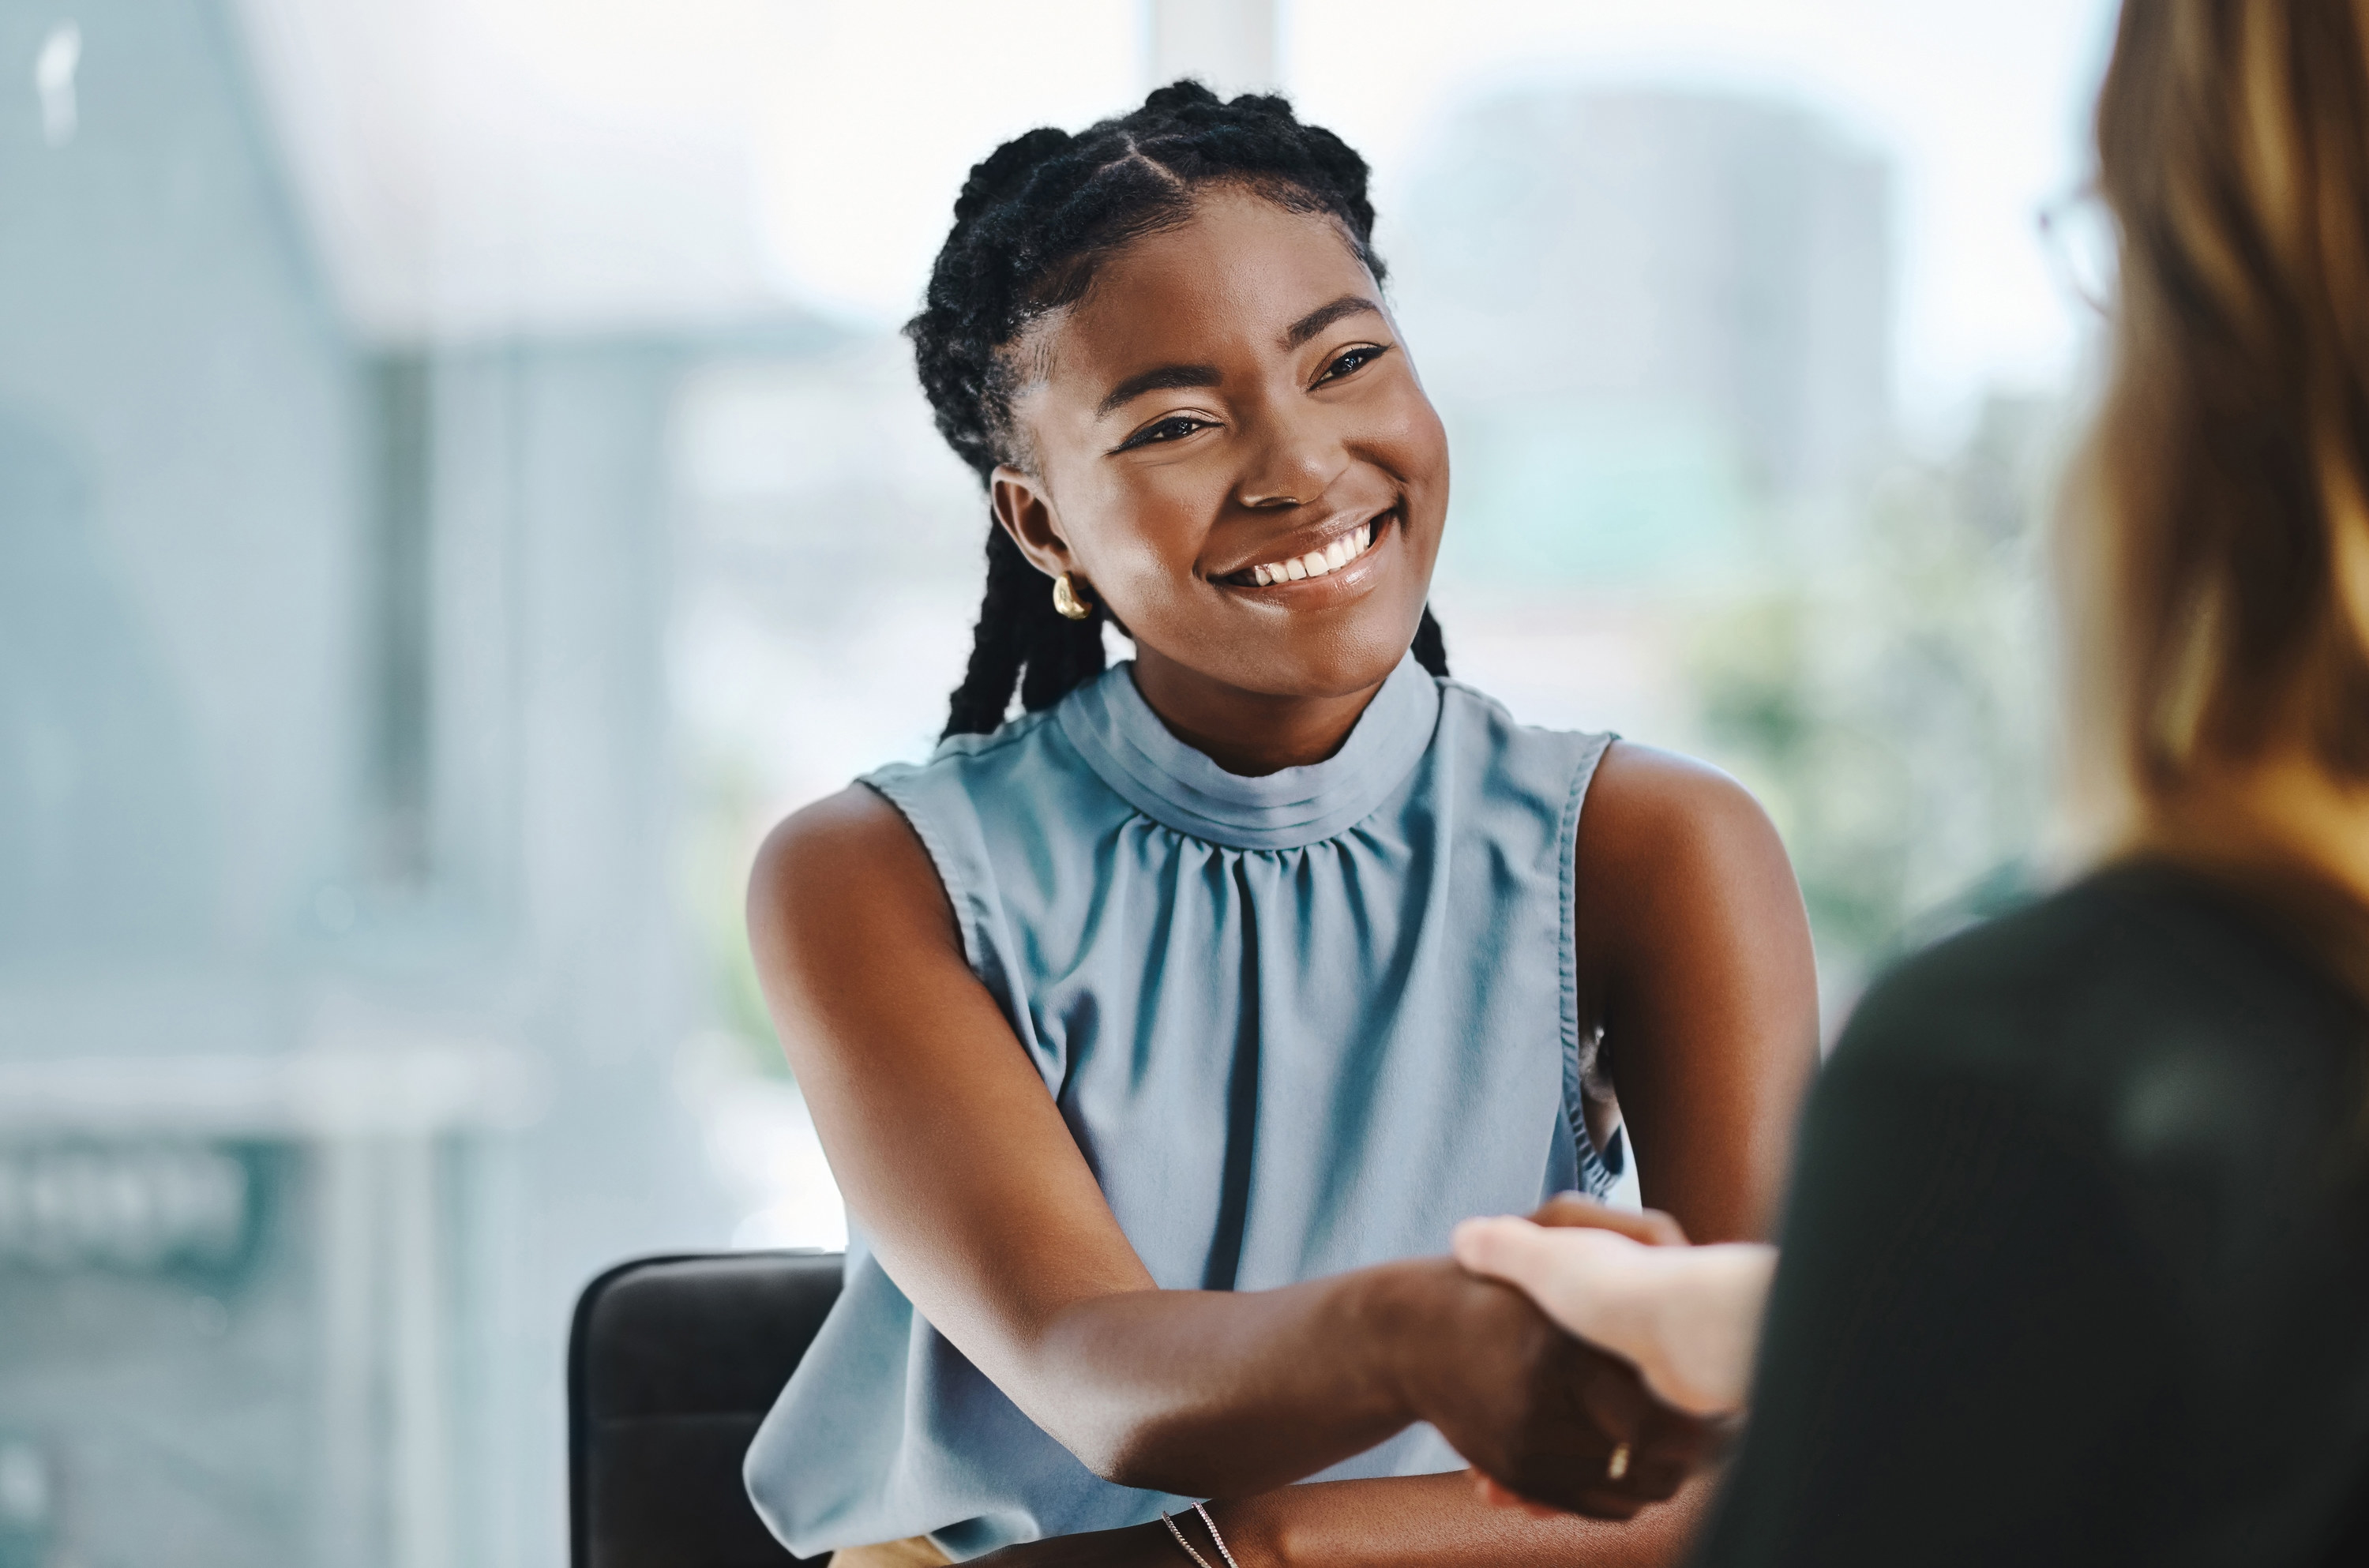
[[[1492,1502],[1630,1518],[1744,1407],[1777,1248],[1687,1246],[1668,1215],[1561,1196],[1528,1220],[1466,1220],[1455,1260],[1535,1307],[1502,1303],[1516,1322],[1495,1336],[1457,1324],[1459,1355],[1419,1397]]]

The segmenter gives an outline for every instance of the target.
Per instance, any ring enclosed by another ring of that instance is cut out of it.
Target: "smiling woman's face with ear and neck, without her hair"
[[[1447,438],[1350,234],[1215,185],[1031,336],[1000,533],[1123,606],[1184,741],[1251,775],[1320,760],[1407,651],[1447,516]],[[1244,730],[1234,694],[1286,701]]]

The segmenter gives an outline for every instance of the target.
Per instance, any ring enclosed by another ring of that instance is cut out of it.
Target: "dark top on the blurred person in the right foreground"
[[[2189,872],[1874,988],[1699,1566],[2369,1563],[2369,1009]]]

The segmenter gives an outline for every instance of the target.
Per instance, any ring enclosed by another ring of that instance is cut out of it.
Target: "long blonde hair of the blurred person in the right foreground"
[[[2127,0],[2078,727],[2139,817],[2270,751],[2369,782],[2369,0]],[[2085,708],[2085,711],[2082,711]]]

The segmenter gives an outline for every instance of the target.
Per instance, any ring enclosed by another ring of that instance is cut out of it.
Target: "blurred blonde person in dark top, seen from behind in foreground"
[[[1691,1409],[1760,1331],[1699,1563],[2369,1561],[2369,0],[2134,0],[2097,144],[2113,850],[1876,985],[1781,1260],[1457,1236]]]

